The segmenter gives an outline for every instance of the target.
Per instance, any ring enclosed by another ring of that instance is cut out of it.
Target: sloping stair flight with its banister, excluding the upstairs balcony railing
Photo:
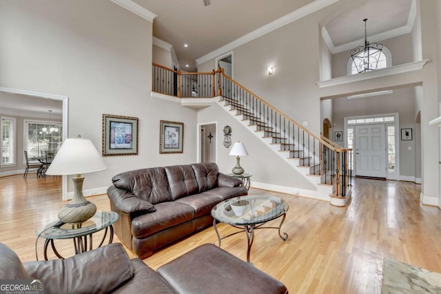
[[[351,192],[351,150],[315,136],[220,70],[218,104],[316,187],[301,195],[345,206]],[[300,191],[299,191],[300,193]]]

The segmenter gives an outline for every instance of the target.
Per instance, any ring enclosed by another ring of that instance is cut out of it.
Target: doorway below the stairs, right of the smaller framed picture
[[[198,130],[198,162],[216,162],[216,123],[203,123]]]

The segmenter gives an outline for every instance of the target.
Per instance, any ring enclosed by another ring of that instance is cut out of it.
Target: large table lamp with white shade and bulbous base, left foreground
[[[89,139],[68,138],[61,145],[54,160],[48,167],[48,175],[74,175],[74,197],[63,207],[58,218],[66,224],[77,224],[92,218],[96,205],[85,200],[81,174],[93,173],[107,169],[104,160]]]

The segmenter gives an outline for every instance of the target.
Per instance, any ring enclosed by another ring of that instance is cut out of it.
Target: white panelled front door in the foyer
[[[384,125],[356,126],[356,176],[386,178]]]

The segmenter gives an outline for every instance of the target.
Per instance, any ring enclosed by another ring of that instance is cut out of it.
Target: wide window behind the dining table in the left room
[[[61,123],[45,123],[25,120],[25,146],[29,158],[41,156],[41,151],[51,151],[54,154],[63,143],[63,128]]]

